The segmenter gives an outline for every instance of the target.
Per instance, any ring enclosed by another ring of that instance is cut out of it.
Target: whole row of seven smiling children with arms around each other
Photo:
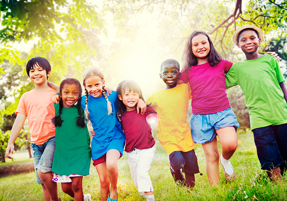
[[[146,104],[133,80],[122,81],[116,92],[107,93],[103,73],[96,68],[83,72],[84,96],[74,78],[63,80],[60,87],[48,83],[50,64],[45,58],[33,57],[26,70],[35,88],[19,101],[6,157],[11,158],[28,116],[37,183],[42,185],[45,201],[60,200],[57,182],[75,201],[91,201],[91,195],[82,190],[91,157],[102,201],[117,201],[117,160],[124,147],[138,191],[147,201],[154,201],[148,171],[156,147],[146,119],[157,114],[158,140],[169,155],[178,185],[195,185],[199,168],[194,143],[202,144],[210,185],[219,184],[219,161],[230,182],[236,178],[230,158],[237,148],[239,124],[225,90],[239,85],[249,108],[261,169],[267,170],[271,180],[278,180],[287,168],[287,88],[275,58],[257,53],[262,39],[262,31],[255,26],[237,29],[233,42],[246,59],[232,64],[221,58],[205,32],[194,31],[185,45],[183,70],[175,59],[163,61],[160,78],[166,87],[152,93]],[[186,114],[191,98],[189,125]],[[89,120],[94,129],[92,142],[86,126]],[[216,135],[222,144],[221,156]]]

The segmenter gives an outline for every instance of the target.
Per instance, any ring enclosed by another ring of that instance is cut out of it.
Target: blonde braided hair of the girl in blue
[[[104,82],[104,80],[105,80],[103,72],[101,72],[97,68],[88,68],[82,74],[82,81],[83,81],[83,86],[85,87],[85,95],[86,95],[86,108],[85,108],[84,112],[85,112],[85,117],[87,120],[90,119],[90,113],[88,111],[89,93],[88,93],[88,90],[86,89],[86,80],[90,77],[93,77],[93,76],[98,76],[102,80],[102,82]],[[107,100],[108,115],[111,115],[112,114],[112,103],[110,102],[107,95],[105,94],[104,86],[103,86],[103,90],[102,90],[102,95]]]

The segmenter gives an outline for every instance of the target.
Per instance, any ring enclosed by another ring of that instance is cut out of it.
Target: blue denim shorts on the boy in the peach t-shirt
[[[52,170],[55,146],[55,136],[49,138],[44,144],[37,145],[31,143],[34,168],[38,184],[43,184],[43,182],[38,175],[37,169],[43,173],[51,172]]]

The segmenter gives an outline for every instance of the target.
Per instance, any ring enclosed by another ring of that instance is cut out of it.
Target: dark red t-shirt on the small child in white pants
[[[137,149],[148,149],[156,143],[152,134],[150,125],[146,122],[146,116],[156,113],[154,109],[146,106],[144,115],[137,114],[137,110],[126,111],[122,115],[122,126],[126,135],[126,152]]]

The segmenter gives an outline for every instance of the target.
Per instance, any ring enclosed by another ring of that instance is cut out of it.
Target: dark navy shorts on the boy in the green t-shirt
[[[279,166],[286,169],[287,124],[253,129],[261,169],[270,170]]]

